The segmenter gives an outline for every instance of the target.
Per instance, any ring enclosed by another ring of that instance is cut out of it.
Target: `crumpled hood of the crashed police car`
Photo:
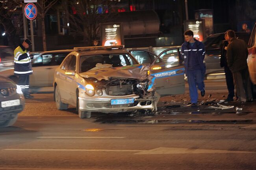
[[[149,64],[104,68],[80,73],[83,78],[94,77],[97,80],[109,80],[112,77],[144,80],[147,78]]]

